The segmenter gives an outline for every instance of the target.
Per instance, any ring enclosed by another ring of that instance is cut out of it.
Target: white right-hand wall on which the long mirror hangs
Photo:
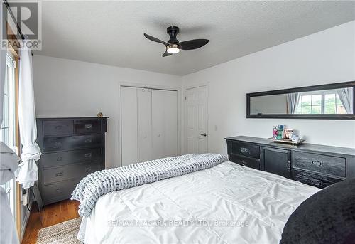
[[[224,137],[271,137],[274,124],[298,129],[310,143],[355,147],[354,120],[246,119],[247,92],[349,80],[355,21],[186,75],[184,86],[208,83],[209,152],[226,153]]]

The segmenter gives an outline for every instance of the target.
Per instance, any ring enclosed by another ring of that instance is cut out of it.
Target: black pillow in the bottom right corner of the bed
[[[307,198],[291,214],[280,244],[355,243],[355,179]]]

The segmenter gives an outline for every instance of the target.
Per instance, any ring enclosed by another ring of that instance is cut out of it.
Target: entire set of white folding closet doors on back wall
[[[178,92],[121,87],[122,166],[178,155]]]

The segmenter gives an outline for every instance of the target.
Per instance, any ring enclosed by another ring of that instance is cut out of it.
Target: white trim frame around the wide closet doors
[[[167,85],[152,85],[149,83],[126,83],[126,82],[121,82],[119,83],[119,120],[118,120],[118,125],[119,125],[119,143],[118,143],[118,152],[119,152],[119,166],[122,166],[122,123],[121,123],[121,118],[122,118],[122,102],[121,102],[121,87],[136,87],[136,88],[146,88],[146,89],[153,89],[153,90],[170,90],[170,91],[176,91],[178,92],[178,155],[182,154],[182,117],[181,117],[181,101],[182,101],[182,90],[181,87],[174,87],[174,86],[167,86]],[[176,155],[176,156],[178,156]]]

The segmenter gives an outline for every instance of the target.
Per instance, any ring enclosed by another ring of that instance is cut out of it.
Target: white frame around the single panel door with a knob
[[[194,89],[197,87],[206,87],[206,133],[207,133],[207,142],[206,142],[206,147],[207,147],[207,152],[209,152],[209,113],[208,113],[208,97],[209,97],[209,83],[198,83],[196,85],[187,85],[184,87],[184,94],[182,97],[182,100],[184,102],[184,112],[182,115],[182,127],[183,127],[183,141],[182,141],[182,150],[183,150],[183,154],[187,154],[187,127],[186,127],[186,120],[187,120],[187,116],[186,116],[186,112],[187,112],[187,100],[186,100],[186,93],[187,90],[190,89]]]

